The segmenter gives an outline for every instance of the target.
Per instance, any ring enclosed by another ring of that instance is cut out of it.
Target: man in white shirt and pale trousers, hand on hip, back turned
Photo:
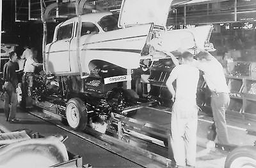
[[[196,165],[196,130],[198,107],[196,106],[196,91],[199,71],[193,66],[193,55],[183,52],[179,62],[171,57],[175,67],[166,87],[172,94],[171,145],[177,167]],[[176,90],[173,82],[176,80]]]

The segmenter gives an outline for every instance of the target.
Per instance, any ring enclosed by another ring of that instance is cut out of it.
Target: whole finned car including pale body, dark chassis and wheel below
[[[58,24],[44,50],[47,78],[35,78],[36,105],[67,118],[72,129],[83,130],[99,120],[111,121],[115,113],[127,115],[159,104],[153,98],[158,95],[138,92],[142,74],[152,74],[150,82],[165,84],[173,62],[163,50],[212,48],[212,25],[166,29],[171,4],[124,0],[119,15],[90,13]]]

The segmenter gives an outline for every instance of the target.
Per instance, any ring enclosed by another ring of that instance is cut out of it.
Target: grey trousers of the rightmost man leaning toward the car
[[[228,130],[226,123],[226,109],[230,103],[229,94],[226,93],[214,93],[211,94],[211,108],[213,120],[217,132],[217,140],[220,144],[229,144]]]

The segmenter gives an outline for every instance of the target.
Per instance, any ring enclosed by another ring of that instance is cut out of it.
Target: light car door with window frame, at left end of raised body
[[[58,28],[56,41],[51,45],[48,56],[48,69],[51,73],[70,72],[70,41],[73,38],[74,22]]]

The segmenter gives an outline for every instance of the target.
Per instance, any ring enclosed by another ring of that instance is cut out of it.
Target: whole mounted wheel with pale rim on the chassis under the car
[[[84,130],[87,126],[88,116],[84,102],[79,98],[72,98],[66,107],[68,125],[74,130]]]

